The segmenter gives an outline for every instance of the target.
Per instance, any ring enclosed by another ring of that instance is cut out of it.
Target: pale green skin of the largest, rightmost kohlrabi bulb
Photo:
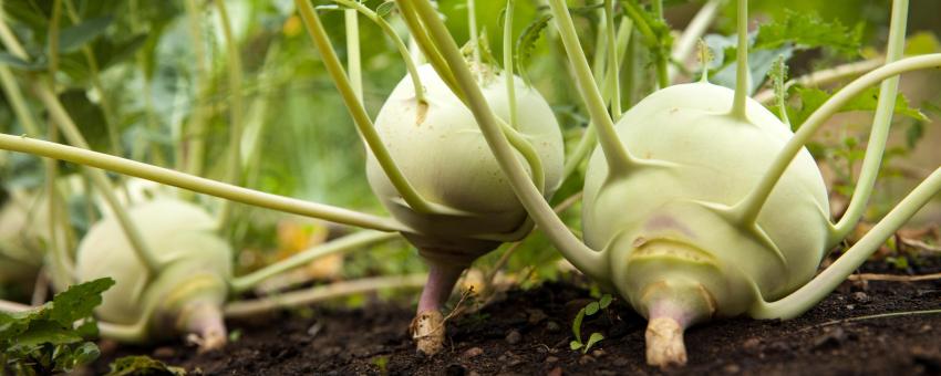
[[[585,241],[601,250],[610,268],[607,275],[592,276],[641,314],[649,303],[642,299],[645,289],[684,281],[705,288],[714,315],[740,315],[809,281],[830,246],[827,189],[806,149],[772,191],[757,231],[724,215],[793,137],[751,98],[749,123],[731,116],[733,96],[732,90],[709,83],[675,85],[623,115],[617,132],[624,146],[639,158],[671,166],[638,167],[608,179],[601,152],[591,157]]]

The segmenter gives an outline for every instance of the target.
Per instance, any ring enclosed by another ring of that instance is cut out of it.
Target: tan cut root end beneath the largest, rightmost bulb
[[[647,364],[661,369],[686,364],[683,326],[670,317],[651,318],[647,324]]]

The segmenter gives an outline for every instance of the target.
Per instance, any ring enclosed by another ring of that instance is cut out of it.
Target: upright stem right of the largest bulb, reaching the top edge
[[[892,20],[889,27],[889,45],[886,48],[886,62],[891,63],[902,58],[906,45],[906,24],[908,22],[908,0],[892,1]],[[862,159],[859,181],[856,182],[856,191],[849,200],[844,216],[834,226],[830,234],[830,244],[846,238],[856,228],[862,218],[866,203],[872,195],[876,177],[879,175],[879,166],[882,163],[882,153],[886,150],[886,142],[889,138],[889,128],[892,126],[892,113],[896,107],[896,95],[899,91],[899,77],[895,76],[882,82],[879,88],[879,102],[872,119],[872,132],[866,146],[866,157]]]

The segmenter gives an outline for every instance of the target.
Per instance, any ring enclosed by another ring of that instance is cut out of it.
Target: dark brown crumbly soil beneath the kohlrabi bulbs
[[[941,272],[941,260],[910,272]],[[862,271],[892,272],[885,261]],[[898,272],[898,271],[896,271]],[[505,299],[448,323],[451,343],[437,356],[415,354],[407,334],[413,309],[314,307],[231,322],[240,338],[225,349],[120,347],[103,344],[96,373],[116,356],[146,354],[207,375],[648,375],[645,321],[616,300],[590,316],[583,336],[604,340],[588,354],[569,348],[571,322],[589,302],[578,280],[509,291]],[[689,364],[676,375],[941,375],[941,314],[850,317],[941,309],[941,280],[844,282],[816,307],[790,321],[721,320],[686,332]]]

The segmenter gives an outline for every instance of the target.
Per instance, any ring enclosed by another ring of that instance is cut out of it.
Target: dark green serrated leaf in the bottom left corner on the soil
[[[73,285],[33,310],[0,313],[3,367],[25,374],[58,374],[97,358],[97,347],[85,340],[96,335],[92,311],[112,285],[110,278],[94,280]]]

